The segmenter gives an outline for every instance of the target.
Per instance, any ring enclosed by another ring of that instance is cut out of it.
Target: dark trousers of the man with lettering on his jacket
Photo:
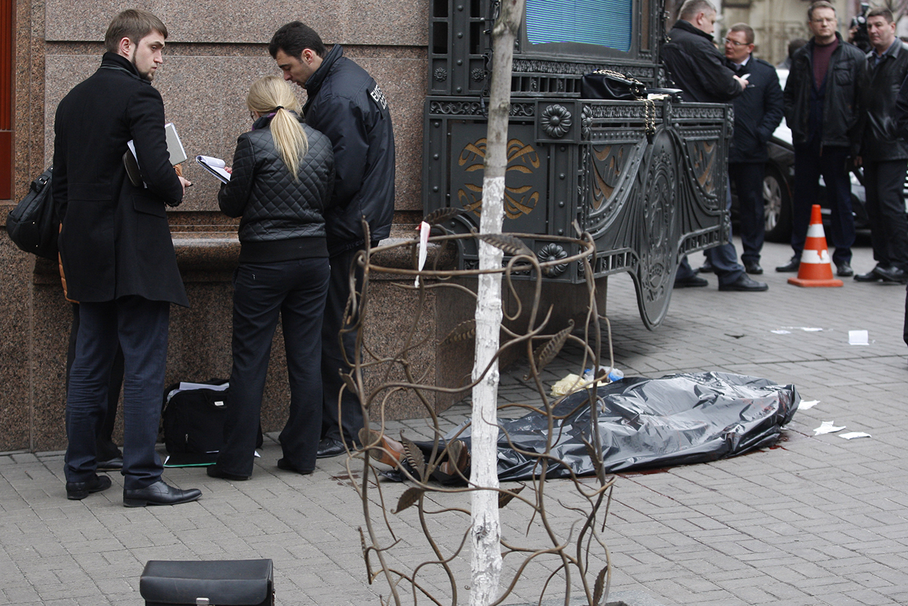
[[[339,372],[350,373],[347,361],[356,352],[356,333],[344,333],[344,309],[350,298],[350,267],[363,246],[331,257],[331,282],[321,323],[321,384],[324,404],[321,409],[321,437],[341,440],[348,444],[359,442],[362,427],[360,399],[349,389],[341,393],[343,380]],[[362,270],[354,271],[357,292],[362,292]],[[340,408],[339,408],[340,407]]]

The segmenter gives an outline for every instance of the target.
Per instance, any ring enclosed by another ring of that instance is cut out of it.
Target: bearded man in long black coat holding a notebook
[[[117,343],[123,348],[123,505],[195,501],[202,492],[161,480],[154,450],[161,419],[170,304],[188,306],[165,204],[189,182],[170,164],[161,94],[151,85],[167,29],[141,10],[114,18],[101,67],[77,84],[54,121],[54,202],[67,294],[80,303],[66,397],[66,495],[111,486],[96,473],[94,440]],[[147,187],[126,176],[127,142]]]

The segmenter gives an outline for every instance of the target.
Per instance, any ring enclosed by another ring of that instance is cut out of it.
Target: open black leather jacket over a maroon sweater
[[[864,53],[836,32],[838,48],[829,59],[826,73],[821,145],[860,146],[860,100],[858,88],[864,82],[867,61]],[[785,122],[795,144],[806,144],[810,137],[811,94],[814,89],[814,38],[792,57],[792,68],[785,83]]]

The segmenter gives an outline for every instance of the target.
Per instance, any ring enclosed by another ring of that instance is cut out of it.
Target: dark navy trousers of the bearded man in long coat
[[[95,439],[107,408],[117,345],[123,349],[123,488],[144,488],[161,479],[154,450],[161,422],[170,303],[126,296],[81,303],[75,360],[66,395],[67,482],[94,477]]]

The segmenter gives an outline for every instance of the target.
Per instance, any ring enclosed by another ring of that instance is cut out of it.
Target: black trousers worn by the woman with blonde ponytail
[[[321,314],[328,259],[241,263],[233,277],[233,368],[230,414],[218,467],[252,475],[262,392],[278,318],[290,379],[290,416],[281,431],[283,458],[301,472],[315,469],[321,428]]]

